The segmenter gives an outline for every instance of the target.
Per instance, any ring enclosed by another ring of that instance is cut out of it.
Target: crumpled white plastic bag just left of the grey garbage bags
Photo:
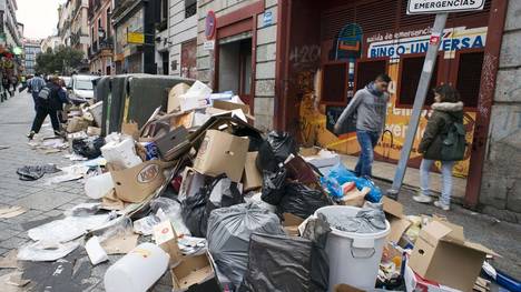
[[[170,220],[178,236],[190,235],[190,231],[183,221],[183,211],[179,202],[160,197],[150,202],[150,209],[161,221]]]

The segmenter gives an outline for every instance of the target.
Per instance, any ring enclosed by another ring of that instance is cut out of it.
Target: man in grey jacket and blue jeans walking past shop
[[[387,74],[379,74],[364,89],[356,91],[335,124],[334,130],[338,133],[350,118],[356,117],[356,139],[361,149],[355,168],[357,177],[372,175],[374,147],[385,128],[390,82],[391,78]]]

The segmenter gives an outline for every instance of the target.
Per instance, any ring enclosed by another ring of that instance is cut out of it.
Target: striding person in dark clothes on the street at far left
[[[58,119],[58,110],[62,109],[62,98],[60,97],[60,91],[62,90],[59,83],[58,77],[49,78],[49,82],[40,90],[38,93],[38,105],[35,120],[32,122],[31,131],[27,135],[29,140],[32,140],[35,134],[40,132],[41,124],[49,115],[55,130],[56,135],[61,135],[60,132],[60,121]]]

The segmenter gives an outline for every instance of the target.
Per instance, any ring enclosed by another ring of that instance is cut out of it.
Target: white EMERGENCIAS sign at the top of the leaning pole
[[[481,10],[484,2],[485,0],[409,0],[407,14]]]

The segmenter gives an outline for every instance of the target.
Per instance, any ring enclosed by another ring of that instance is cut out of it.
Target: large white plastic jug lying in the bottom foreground
[[[141,243],[105,273],[107,292],[146,292],[168,268],[169,255],[154,243]]]

